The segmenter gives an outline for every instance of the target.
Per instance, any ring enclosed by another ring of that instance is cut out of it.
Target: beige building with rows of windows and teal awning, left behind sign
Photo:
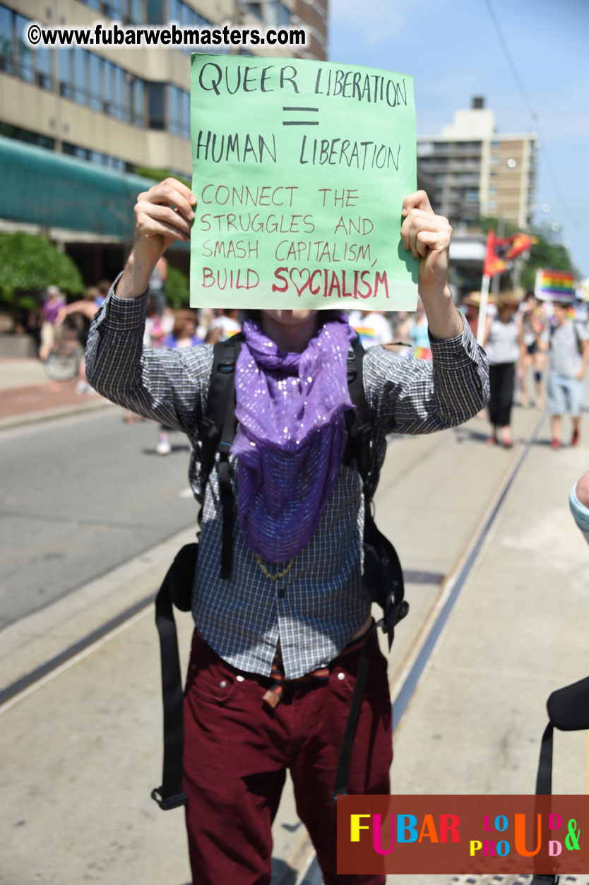
[[[31,49],[22,36],[31,20],[85,27],[97,19],[304,24],[310,41],[303,51],[277,46],[259,54],[325,59],[327,0],[0,0],[0,163],[10,185],[0,189],[0,230],[42,230],[79,264],[82,250],[92,281],[119,266],[134,196],[146,186],[142,167],[192,174],[191,50]],[[249,50],[256,52],[241,52]]]

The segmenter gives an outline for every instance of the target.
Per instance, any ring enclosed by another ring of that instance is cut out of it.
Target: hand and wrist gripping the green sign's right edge
[[[419,258],[418,290],[425,301],[439,296],[446,287],[452,227],[443,215],[433,212],[425,190],[405,197],[402,214],[402,243],[414,258]]]

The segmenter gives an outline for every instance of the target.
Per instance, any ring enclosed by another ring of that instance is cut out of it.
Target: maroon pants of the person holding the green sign
[[[393,760],[386,658],[376,635],[348,789],[389,792]],[[184,789],[194,885],[267,885],[272,820],[290,769],[296,809],[317,851],[325,885],[383,885],[380,875],[336,874],[332,798],[360,652],[337,659],[329,680],[284,683],[272,709],[270,679],[241,673],[195,635],[184,698]]]

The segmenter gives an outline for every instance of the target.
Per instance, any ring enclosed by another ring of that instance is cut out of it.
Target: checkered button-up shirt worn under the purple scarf
[[[317,531],[284,578],[270,581],[246,547],[237,519],[233,574],[221,580],[221,505],[214,469],[202,489],[196,459],[212,368],[212,347],[150,350],[142,344],[147,295],[118,298],[113,290],[90,328],[90,384],[126,409],[183,431],[192,444],[188,477],[203,502],[193,614],[207,643],[229,664],[268,676],[280,640],[287,679],[325,666],[362,627],[371,599],[362,584],[364,501],[356,470],[340,474]],[[462,335],[432,341],[433,361],[372,347],[363,361],[364,389],[374,415],[374,484],[385,459],[386,434],[425,434],[455,427],[488,399],[486,356],[464,324]],[[236,499],[236,464],[233,493]],[[266,563],[271,573],[287,564]]]

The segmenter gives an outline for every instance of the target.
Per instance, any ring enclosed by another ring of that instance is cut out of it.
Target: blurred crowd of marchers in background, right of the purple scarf
[[[474,335],[478,334],[480,299],[480,292],[470,292],[458,305]],[[540,301],[533,292],[523,298],[514,292],[501,292],[489,301],[483,336],[491,389],[486,410],[491,424],[489,445],[512,447],[511,411],[517,389],[520,405],[539,410],[544,408],[546,389],[553,449],[562,448],[564,414],[570,416],[572,424],[570,445],[578,445],[589,359],[587,319],[586,304]],[[350,323],[364,348],[384,344],[407,356],[432,358],[421,301],[417,302],[417,311],[409,315],[354,311]],[[479,417],[484,415],[481,412]]]

